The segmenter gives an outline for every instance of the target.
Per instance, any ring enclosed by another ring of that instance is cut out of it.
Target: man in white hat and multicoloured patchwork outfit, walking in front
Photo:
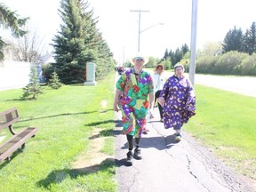
[[[143,70],[148,59],[137,56],[131,62],[134,65],[133,68],[124,71],[116,82],[114,101],[114,110],[118,112],[121,109],[122,111],[123,133],[126,134],[129,146],[127,164],[130,165],[132,165],[132,157],[141,159],[141,133],[147,124],[148,110],[153,112],[155,98],[152,76]],[[132,153],[133,137],[136,143],[134,155]]]

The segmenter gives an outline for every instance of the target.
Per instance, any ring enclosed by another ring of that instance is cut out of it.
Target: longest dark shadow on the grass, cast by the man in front
[[[48,188],[52,184],[60,184],[63,180],[67,178],[71,178],[72,180],[76,180],[78,176],[87,176],[95,172],[112,172],[115,174],[111,168],[116,167],[116,159],[114,158],[106,158],[100,164],[95,164],[89,167],[83,167],[78,169],[62,169],[62,170],[54,170],[48,174],[48,176],[44,180],[39,180],[36,182],[37,186],[40,188]]]

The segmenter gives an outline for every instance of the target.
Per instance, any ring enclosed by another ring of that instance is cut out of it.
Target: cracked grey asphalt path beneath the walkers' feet
[[[128,145],[121,133],[120,114],[116,114],[116,179],[119,192],[251,192],[246,181],[230,171],[212,153],[202,147],[187,132],[182,140],[174,140],[173,130],[165,130],[156,118],[148,124],[140,147],[142,160],[133,159],[127,166]],[[193,119],[192,119],[193,120]]]

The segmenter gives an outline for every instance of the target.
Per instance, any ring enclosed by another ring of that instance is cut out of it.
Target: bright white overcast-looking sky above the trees
[[[190,47],[193,0],[88,0],[97,28],[118,63],[138,52],[140,12],[140,53],[162,58],[167,49],[182,44]],[[197,0],[196,49],[209,42],[222,42],[229,29],[243,32],[256,21],[255,0]],[[44,38],[52,51],[52,38],[60,29],[60,0],[0,0]],[[135,12],[134,12],[135,11]],[[163,25],[162,25],[163,24]],[[1,34],[3,36],[4,34]]]

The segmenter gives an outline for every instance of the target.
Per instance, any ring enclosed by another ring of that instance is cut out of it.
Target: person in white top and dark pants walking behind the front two
[[[155,92],[155,103],[156,100],[159,98],[160,92],[163,90],[165,77],[164,77],[164,65],[158,64],[156,65],[156,69],[154,70],[153,75],[154,80],[154,92]],[[159,114],[160,114],[160,122],[163,122],[163,107],[162,105],[157,102]]]

